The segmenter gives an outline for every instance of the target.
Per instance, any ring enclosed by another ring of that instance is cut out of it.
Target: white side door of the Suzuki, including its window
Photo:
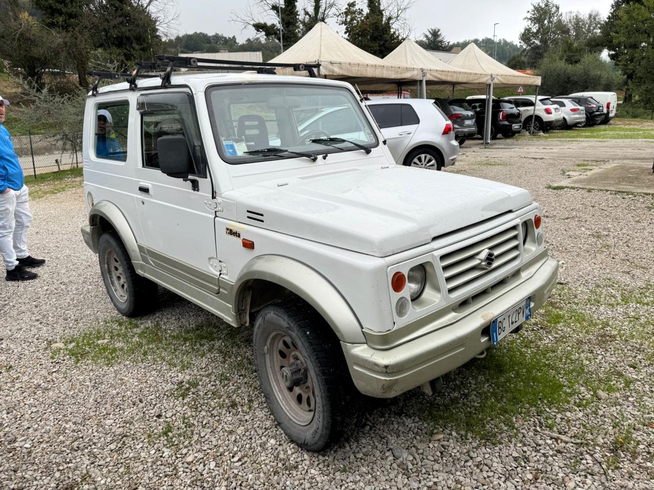
[[[134,172],[134,195],[141,223],[141,253],[160,271],[217,294],[218,271],[209,260],[216,257],[215,211],[205,205],[213,188],[193,97],[188,91],[166,90],[139,96],[137,103],[141,142],[139,165]],[[195,171],[184,182],[159,169],[157,140],[183,135]]]

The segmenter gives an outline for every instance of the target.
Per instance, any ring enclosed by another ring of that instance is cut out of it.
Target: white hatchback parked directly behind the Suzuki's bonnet
[[[381,99],[368,107],[398,165],[440,170],[455,164],[454,126],[432,99]]]

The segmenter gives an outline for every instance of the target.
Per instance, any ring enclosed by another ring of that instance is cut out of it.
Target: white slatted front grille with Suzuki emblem
[[[447,293],[456,296],[470,291],[485,280],[486,274],[504,272],[517,263],[519,257],[517,227],[502,230],[489,238],[441,255]]]

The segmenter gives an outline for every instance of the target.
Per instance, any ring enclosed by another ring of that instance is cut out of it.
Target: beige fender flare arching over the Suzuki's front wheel
[[[260,255],[250,260],[237,278],[232,310],[244,288],[253,280],[266,280],[285,287],[309,303],[332,327],[342,342],[365,344],[362,327],[352,308],[324,276],[311,267],[281,255]]]

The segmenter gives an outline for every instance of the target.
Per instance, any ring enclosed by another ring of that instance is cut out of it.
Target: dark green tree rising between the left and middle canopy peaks
[[[381,0],[368,0],[367,10],[351,1],[339,14],[339,24],[345,27],[348,41],[375,56],[385,57],[397,48],[405,37],[396,24],[403,18],[389,14],[381,7]]]

